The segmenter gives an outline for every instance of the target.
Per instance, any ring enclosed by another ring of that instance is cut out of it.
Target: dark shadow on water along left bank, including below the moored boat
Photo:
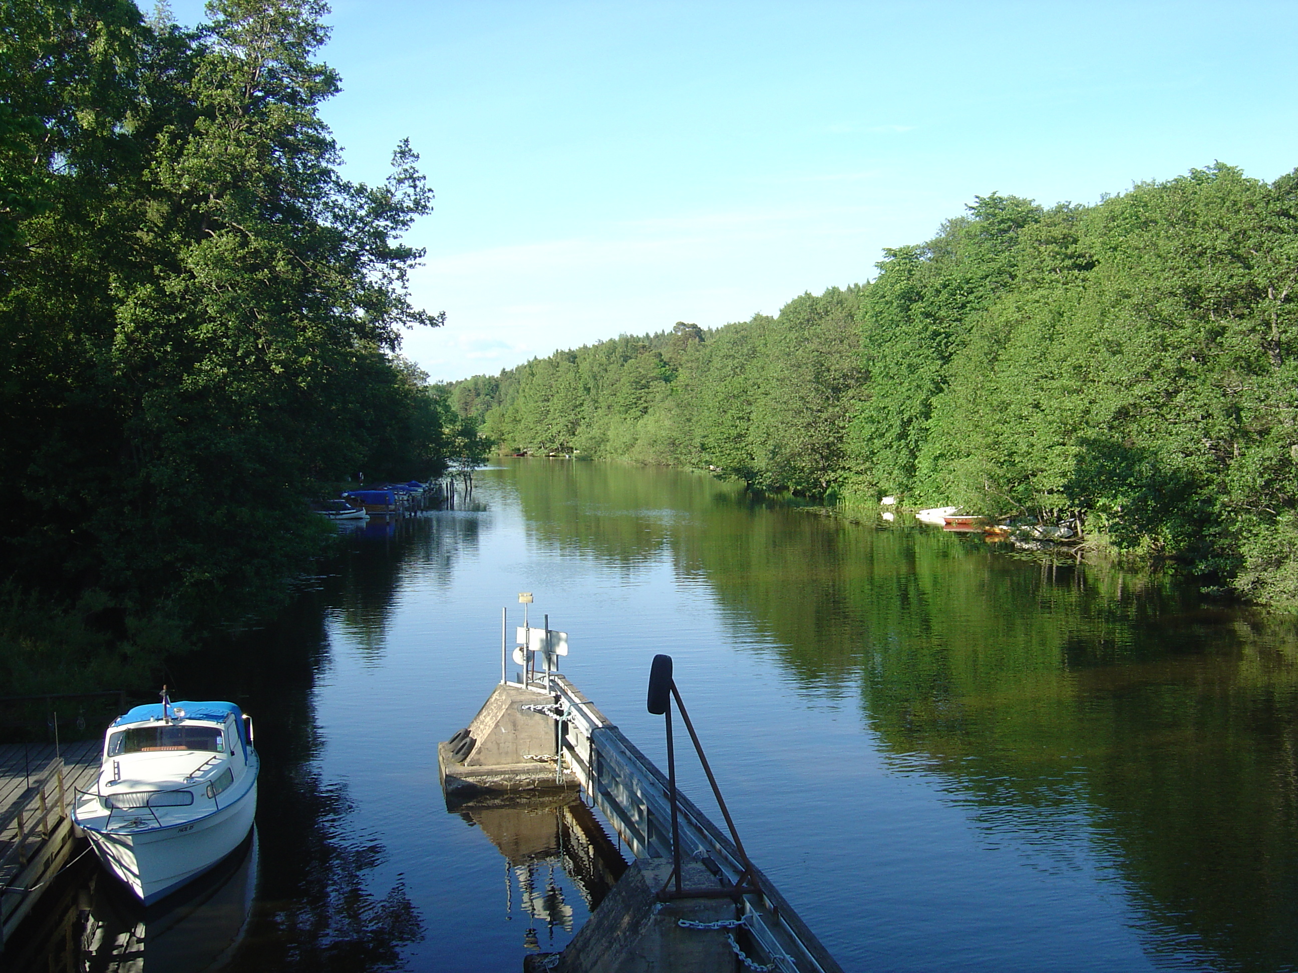
[[[214,890],[205,880],[187,887],[196,898],[184,896],[183,915],[170,911],[170,900],[160,904],[167,912],[132,912],[130,896],[87,855],[69,869],[57,902],[43,904],[26,965],[14,969],[353,973],[402,965],[402,948],[424,935],[423,920],[401,876],[386,890],[371,887],[369,876],[387,851],[357,832],[347,785],[319,771],[313,693],[330,666],[331,611],[383,627],[402,570],[449,570],[475,544],[471,519],[443,527],[419,518],[376,536],[357,532],[314,590],[271,624],[169,662],[174,694],[231,699],[253,715],[262,760],[257,842],[232,871],[228,860],[218,869]],[[235,899],[247,921],[231,938]],[[180,964],[183,942],[193,951]]]

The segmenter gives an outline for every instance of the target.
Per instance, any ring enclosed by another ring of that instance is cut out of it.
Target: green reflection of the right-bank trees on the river
[[[936,775],[989,850],[1046,869],[1098,856],[1155,965],[1298,969],[1292,624],[1168,576],[774,509],[670,471],[519,468],[517,490],[556,551],[623,571],[670,557],[805,699],[855,688],[892,772]]]

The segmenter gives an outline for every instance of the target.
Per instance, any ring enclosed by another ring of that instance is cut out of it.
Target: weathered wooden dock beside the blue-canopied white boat
[[[0,950],[71,858],[75,789],[93,785],[101,747],[0,746]]]

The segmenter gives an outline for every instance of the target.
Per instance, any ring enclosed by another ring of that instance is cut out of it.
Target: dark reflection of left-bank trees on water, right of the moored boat
[[[261,881],[230,969],[395,969],[423,939],[404,876],[374,880],[391,858],[384,842],[357,821],[348,782],[322,769],[317,693],[335,664],[331,619],[382,653],[402,566],[445,563],[474,538],[472,525],[443,533],[428,516],[356,537],[318,590],[273,624],[170,664],[177,685],[238,701],[257,727]]]

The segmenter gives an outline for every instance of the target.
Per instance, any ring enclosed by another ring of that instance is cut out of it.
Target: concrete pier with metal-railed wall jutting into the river
[[[527,969],[733,973],[742,952],[752,969],[841,973],[771,880],[748,871],[729,835],[683,794],[684,886],[710,894],[659,900],[672,860],[667,778],[563,676],[496,686],[469,727],[439,746],[439,758],[448,810],[580,787],[635,858],[569,947],[530,956]],[[722,925],[692,925],[714,922]]]

